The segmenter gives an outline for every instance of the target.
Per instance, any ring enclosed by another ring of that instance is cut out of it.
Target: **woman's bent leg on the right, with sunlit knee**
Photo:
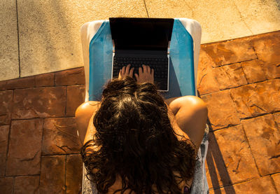
[[[165,102],[174,113],[176,123],[188,134],[197,148],[203,139],[207,122],[207,106],[199,97],[184,96],[166,99]]]

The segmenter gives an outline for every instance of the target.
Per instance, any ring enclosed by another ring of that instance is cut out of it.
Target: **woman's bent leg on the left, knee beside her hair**
[[[78,125],[78,136],[80,138],[80,143],[83,145],[85,139],[85,134],[87,132],[88,123],[92,117],[92,113],[99,108],[99,102],[88,101],[80,104],[76,109],[75,119]]]

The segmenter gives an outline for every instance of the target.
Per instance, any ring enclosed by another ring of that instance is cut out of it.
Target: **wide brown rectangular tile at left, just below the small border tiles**
[[[15,90],[13,102],[13,119],[64,116],[66,87]]]

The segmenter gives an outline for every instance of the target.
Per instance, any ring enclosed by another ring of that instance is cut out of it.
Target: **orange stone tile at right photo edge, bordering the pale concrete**
[[[280,78],[280,32],[254,37],[253,47],[258,59],[264,62],[263,69],[267,78]]]

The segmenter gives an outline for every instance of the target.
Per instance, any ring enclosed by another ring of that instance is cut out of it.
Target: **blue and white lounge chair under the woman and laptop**
[[[111,79],[112,71],[113,42],[109,20],[87,22],[81,27],[80,34],[85,67],[85,102],[100,101],[104,84]],[[202,28],[197,21],[175,18],[169,50],[169,92],[162,92],[165,98],[197,95],[196,78],[201,35]],[[200,181],[197,186],[203,186],[204,191],[207,192],[208,184],[204,167],[208,148],[207,134],[202,141],[202,146],[198,152],[200,164],[196,165],[200,167],[202,174],[196,173],[195,179]],[[83,170],[85,172],[84,167]],[[83,192],[94,193],[94,186],[90,185],[85,176]]]

